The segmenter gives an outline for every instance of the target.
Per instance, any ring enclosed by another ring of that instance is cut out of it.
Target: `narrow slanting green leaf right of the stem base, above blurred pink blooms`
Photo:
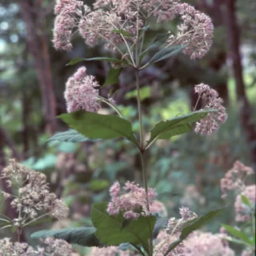
[[[182,229],[179,239],[170,244],[168,250],[166,251],[166,253],[164,253],[164,256],[168,255],[168,253],[170,253],[177,245],[179,245],[186,237],[188,237],[188,235],[191,234],[191,232],[198,230],[199,228],[203,227],[206,223],[213,220],[217,216],[217,214],[224,211],[225,208],[226,207],[210,211],[203,216],[195,218],[195,220],[189,221],[192,222],[192,224]]]

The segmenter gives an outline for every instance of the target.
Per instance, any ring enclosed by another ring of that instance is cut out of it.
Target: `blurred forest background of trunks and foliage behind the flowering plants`
[[[91,0],[85,2],[92,4]],[[151,148],[148,179],[170,216],[177,216],[180,205],[198,214],[225,205],[220,199],[220,179],[225,172],[236,160],[256,166],[256,2],[187,2],[212,18],[214,44],[200,61],[179,54],[141,72],[145,129],[193,109],[193,86],[198,83],[218,90],[228,120],[209,137],[191,133],[157,141]],[[14,157],[46,173],[52,191],[65,198],[71,211],[68,220],[54,223],[54,227],[76,227],[90,225],[90,205],[108,200],[108,188],[116,179],[140,182],[140,161],[136,148],[122,140],[47,142],[51,135],[67,130],[56,115],[66,111],[65,81],[81,65],[67,67],[68,61],[106,54],[101,45],[88,48],[81,38],[75,39],[71,52],[56,52],[51,44],[53,8],[50,0],[0,3],[0,172]],[[173,26],[172,22],[152,24],[149,31],[154,35]],[[83,64],[104,83],[108,64]],[[138,131],[132,70],[124,70],[120,83],[102,88],[101,95],[107,97],[111,88],[116,91],[116,103]],[[102,107],[102,113],[111,113]],[[8,189],[4,182],[0,186]],[[0,210],[15,214],[8,202]],[[218,232],[220,223],[232,224],[234,211],[232,207],[228,211],[205,228]],[[36,224],[51,227],[53,223]],[[27,237],[36,229],[38,226],[29,228]]]

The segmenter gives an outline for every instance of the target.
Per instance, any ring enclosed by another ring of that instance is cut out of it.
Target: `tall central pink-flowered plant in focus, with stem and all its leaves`
[[[108,248],[113,250],[109,252],[109,255],[115,255],[118,252],[120,255],[184,255],[184,239],[223,209],[215,209],[204,216],[197,216],[188,208],[181,207],[179,219],[168,218],[159,211],[153,211],[157,193],[154,188],[148,188],[145,152],[150,150],[157,140],[169,139],[186,132],[195,131],[198,134],[210,135],[225,122],[227,115],[218,92],[207,84],[197,84],[195,93],[198,94],[198,100],[195,109],[199,101],[202,102],[202,109],[199,111],[194,109],[186,115],[159,122],[150,130],[150,138],[145,140],[140,97],[140,72],[179,52],[188,55],[193,60],[204,57],[212,44],[211,19],[195,10],[193,6],[180,3],[179,0],[97,0],[92,8],[83,1],[57,0],[54,12],[56,20],[53,29],[53,44],[56,49],[71,51],[72,38],[78,34],[87,45],[94,47],[97,44],[103,44],[108,51],[108,56],[90,59],[76,58],[68,65],[75,65],[81,61],[108,61],[111,65],[103,86],[118,83],[118,76],[122,70],[132,68],[140,125],[140,132],[136,134],[132,130],[132,123],[124,118],[122,111],[115,104],[115,95],[109,93],[108,99],[100,96],[100,84],[94,76],[87,73],[86,67],[81,66],[68,78],[66,84],[64,96],[68,113],[58,116],[71,129],[56,134],[54,140],[70,142],[82,142],[85,138],[128,140],[140,154],[142,177],[138,182],[127,181],[125,184],[120,184],[116,181],[109,188],[111,201],[92,205],[90,217],[93,227],[40,230],[32,237],[43,239],[55,237],[68,243],[97,248],[115,246]],[[156,34],[149,44],[145,43],[152,22],[176,22],[176,20],[179,22],[174,31]],[[103,104],[112,108],[116,115],[99,114],[98,111]],[[29,182],[27,179],[27,177],[22,177],[20,182]],[[18,191],[22,196],[24,191],[20,189]],[[40,195],[38,200],[45,200],[45,198],[47,195]],[[22,204],[17,205],[17,211],[21,214],[21,217],[19,215],[16,220],[18,234],[22,232],[22,228],[29,225],[31,218],[37,218],[33,209],[23,207],[23,203],[22,201]],[[52,207],[49,209],[51,214],[54,212],[54,206]],[[198,236],[200,237],[200,234]],[[212,239],[214,241],[215,238]],[[220,239],[219,242],[221,243]],[[95,255],[100,255],[100,252],[95,253]],[[193,254],[186,252],[186,255]]]

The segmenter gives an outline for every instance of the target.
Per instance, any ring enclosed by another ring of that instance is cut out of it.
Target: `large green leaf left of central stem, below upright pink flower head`
[[[133,135],[131,123],[119,116],[100,115],[79,110],[58,116],[72,129],[80,132],[86,138],[113,139],[124,137],[138,145]]]

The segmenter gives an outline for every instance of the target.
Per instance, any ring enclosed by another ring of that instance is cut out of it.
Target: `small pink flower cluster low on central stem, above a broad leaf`
[[[111,202],[108,204],[108,213],[117,215],[122,212],[124,218],[137,219],[139,216],[148,216],[147,199],[150,205],[156,198],[156,191],[148,188],[148,195],[144,188],[138,184],[127,181],[121,188],[119,182],[115,182],[109,189]]]

